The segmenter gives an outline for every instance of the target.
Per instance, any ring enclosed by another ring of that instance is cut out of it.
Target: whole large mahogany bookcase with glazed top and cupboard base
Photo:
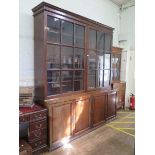
[[[35,100],[48,108],[52,150],[116,116],[113,28],[45,2],[32,11]]]

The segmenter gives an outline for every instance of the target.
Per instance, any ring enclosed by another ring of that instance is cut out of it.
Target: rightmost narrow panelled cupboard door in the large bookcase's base
[[[116,115],[116,92],[107,95],[107,119]]]

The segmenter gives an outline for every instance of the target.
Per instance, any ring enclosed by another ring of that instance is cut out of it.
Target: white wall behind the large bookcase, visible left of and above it
[[[31,9],[41,0],[19,1],[19,79],[20,86],[33,86],[34,40]],[[46,0],[46,2],[115,28],[113,45],[118,46],[120,30],[119,7],[109,0]]]

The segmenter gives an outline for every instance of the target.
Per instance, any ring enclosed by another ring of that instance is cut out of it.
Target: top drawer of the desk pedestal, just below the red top
[[[42,119],[46,119],[46,117],[47,117],[46,111],[42,111],[35,114],[31,114],[30,121],[32,122],[32,121],[42,120]]]

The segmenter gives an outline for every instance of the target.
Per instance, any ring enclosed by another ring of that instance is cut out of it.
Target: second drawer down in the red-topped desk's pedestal
[[[31,132],[31,131],[38,130],[38,129],[41,129],[41,128],[46,128],[46,126],[47,126],[46,120],[43,120],[43,121],[30,123],[30,128],[29,129],[30,129],[30,132]]]

